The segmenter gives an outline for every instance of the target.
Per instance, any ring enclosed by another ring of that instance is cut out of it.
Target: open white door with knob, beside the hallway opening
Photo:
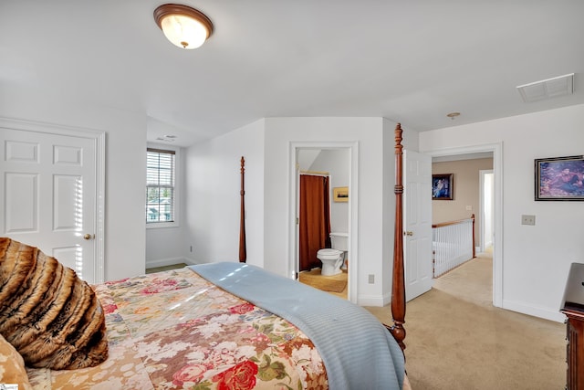
[[[405,300],[432,289],[432,157],[404,151]]]

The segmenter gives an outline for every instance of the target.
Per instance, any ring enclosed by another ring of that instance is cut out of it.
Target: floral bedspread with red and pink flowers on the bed
[[[110,357],[81,370],[27,369],[35,389],[328,388],[320,355],[303,332],[191,269],[95,290]]]

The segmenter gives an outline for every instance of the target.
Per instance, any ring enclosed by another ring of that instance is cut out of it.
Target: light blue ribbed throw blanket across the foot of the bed
[[[401,389],[404,359],[391,333],[369,311],[327,292],[242,263],[190,266],[204,279],[287,319],[318,349],[328,386]]]

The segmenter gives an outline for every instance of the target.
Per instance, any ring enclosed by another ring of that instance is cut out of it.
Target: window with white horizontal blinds
[[[146,155],[146,224],[174,222],[175,152],[148,148]]]

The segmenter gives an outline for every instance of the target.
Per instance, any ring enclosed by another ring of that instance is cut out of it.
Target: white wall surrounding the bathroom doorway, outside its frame
[[[289,235],[294,221],[289,216],[290,143],[291,142],[359,142],[359,250],[356,272],[358,290],[355,296],[363,304],[382,304],[382,258],[384,239],[383,199],[383,133],[381,118],[268,118],[266,119],[266,269],[288,274],[293,263]],[[355,195],[355,194],[353,194]],[[392,239],[392,237],[391,237]],[[354,258],[352,256],[351,258]],[[376,275],[375,284],[367,276]],[[352,278],[353,276],[351,276]],[[352,294],[351,294],[352,295]]]

